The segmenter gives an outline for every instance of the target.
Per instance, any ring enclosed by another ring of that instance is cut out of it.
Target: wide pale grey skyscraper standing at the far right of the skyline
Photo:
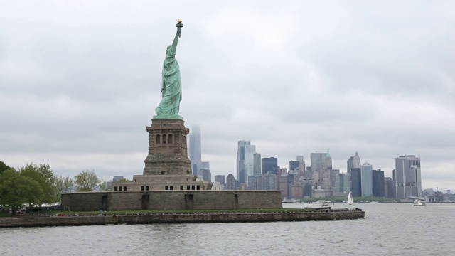
[[[409,155],[395,158],[395,186],[397,198],[422,197],[420,157]]]

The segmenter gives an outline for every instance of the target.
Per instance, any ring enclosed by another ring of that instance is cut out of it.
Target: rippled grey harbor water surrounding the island
[[[0,229],[2,255],[455,255],[455,203],[357,203],[363,220]],[[302,208],[287,203],[285,208]],[[333,208],[346,208],[336,203]]]

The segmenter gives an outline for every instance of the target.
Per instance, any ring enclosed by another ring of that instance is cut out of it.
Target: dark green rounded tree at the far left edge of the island
[[[0,204],[9,206],[11,213],[23,204],[40,204],[43,190],[38,181],[23,176],[14,169],[8,169],[0,174]]]

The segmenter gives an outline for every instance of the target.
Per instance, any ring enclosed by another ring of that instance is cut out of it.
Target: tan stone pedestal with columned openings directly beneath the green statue
[[[192,178],[186,136],[190,132],[182,119],[152,119],[149,132],[149,155],[145,159],[144,175],[181,175]],[[189,180],[191,181],[191,179]]]

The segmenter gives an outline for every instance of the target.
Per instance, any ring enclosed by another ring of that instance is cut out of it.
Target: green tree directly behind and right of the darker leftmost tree
[[[58,201],[55,193],[55,176],[49,164],[37,165],[30,163],[26,167],[19,169],[19,173],[38,181],[43,191],[41,194],[41,203],[55,203]]]

